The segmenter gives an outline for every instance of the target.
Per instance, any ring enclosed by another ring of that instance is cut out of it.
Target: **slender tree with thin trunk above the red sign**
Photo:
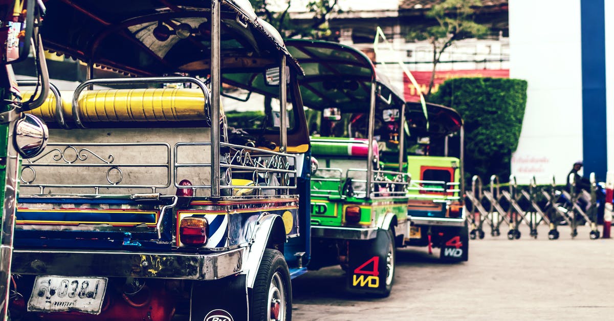
[[[437,20],[437,25],[424,30],[408,33],[406,38],[413,41],[428,40],[433,48],[433,72],[430,76],[430,95],[435,82],[435,70],[441,60],[441,54],[452,46],[454,41],[465,38],[476,38],[488,33],[487,26],[473,21],[476,6],[481,6],[480,0],[445,0],[433,6],[426,16]]]

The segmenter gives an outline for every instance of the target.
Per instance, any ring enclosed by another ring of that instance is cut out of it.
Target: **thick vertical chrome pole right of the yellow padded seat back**
[[[220,1],[211,1],[211,196],[220,196]]]

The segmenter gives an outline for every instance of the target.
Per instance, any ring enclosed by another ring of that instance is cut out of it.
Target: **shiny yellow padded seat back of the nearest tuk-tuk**
[[[66,122],[72,122],[72,92],[61,92]],[[28,99],[32,92],[25,92]],[[200,89],[104,89],[84,90],[77,103],[82,122],[204,121],[204,96]],[[31,111],[44,121],[55,122],[55,97]]]

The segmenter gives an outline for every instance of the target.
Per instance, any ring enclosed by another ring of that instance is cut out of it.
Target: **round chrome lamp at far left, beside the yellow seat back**
[[[49,129],[38,117],[23,114],[23,117],[15,124],[14,139],[15,149],[21,157],[32,158],[41,154],[47,146]]]

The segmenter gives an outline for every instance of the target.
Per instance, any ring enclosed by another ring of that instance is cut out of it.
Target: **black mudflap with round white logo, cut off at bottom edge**
[[[247,320],[246,276],[194,282],[191,309],[192,321]]]

